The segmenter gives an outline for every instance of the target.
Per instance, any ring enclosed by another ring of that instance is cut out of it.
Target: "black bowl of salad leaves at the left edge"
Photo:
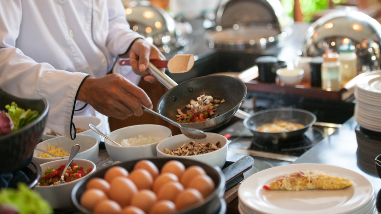
[[[40,116],[17,131],[0,136],[0,174],[18,171],[31,162],[33,150],[40,142],[45,128],[49,104],[45,99],[16,97],[0,88],[0,110],[7,111],[5,105],[15,102],[25,110],[38,110]]]

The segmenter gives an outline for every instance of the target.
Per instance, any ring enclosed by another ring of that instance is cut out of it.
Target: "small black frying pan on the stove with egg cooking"
[[[256,130],[266,123],[274,123],[276,120],[302,124],[303,127],[294,131],[262,132]],[[246,118],[243,124],[250,129],[257,139],[278,142],[289,138],[300,137],[316,122],[316,115],[310,111],[298,108],[273,108],[261,110]]]

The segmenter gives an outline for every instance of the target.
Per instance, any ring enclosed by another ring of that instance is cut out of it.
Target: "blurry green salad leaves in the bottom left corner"
[[[29,189],[26,184],[19,183],[18,189],[7,188],[0,191],[0,206],[12,206],[20,214],[52,214],[50,207],[39,193]]]

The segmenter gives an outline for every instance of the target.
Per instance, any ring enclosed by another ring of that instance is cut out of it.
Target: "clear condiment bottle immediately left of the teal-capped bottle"
[[[330,53],[329,47],[323,54],[321,64],[321,88],[327,91],[339,90],[341,87],[339,54]]]

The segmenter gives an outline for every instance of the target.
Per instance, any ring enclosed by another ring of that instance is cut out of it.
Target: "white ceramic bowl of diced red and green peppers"
[[[60,165],[65,165],[66,162],[67,160],[61,159],[44,163],[41,165],[42,173],[45,173],[47,167],[49,167],[49,169],[58,169]],[[92,168],[93,170],[84,177],[67,182],[65,184],[45,187],[36,186],[33,188],[33,190],[37,193],[40,193],[42,198],[45,199],[55,210],[73,210],[74,205],[71,202],[71,190],[78,181],[84,179],[88,175],[93,174],[97,170],[95,164],[89,160],[74,159],[72,163],[76,163],[79,167],[83,167],[84,171],[89,168]]]

